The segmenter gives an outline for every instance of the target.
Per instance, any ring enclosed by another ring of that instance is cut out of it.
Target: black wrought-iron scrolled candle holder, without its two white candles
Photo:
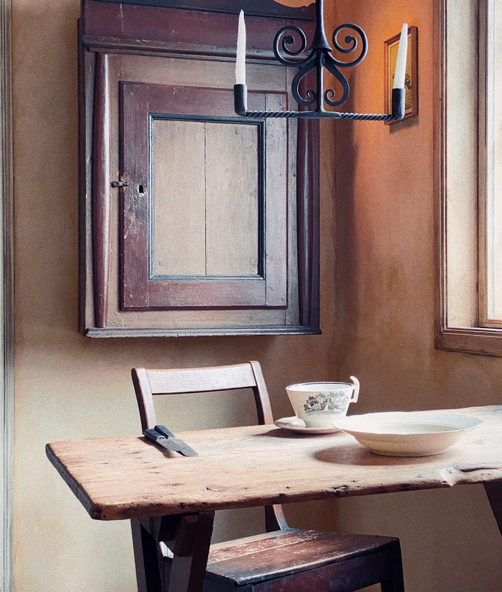
[[[247,86],[245,84],[234,85],[234,108],[237,115],[242,117],[285,117],[285,118],[308,118],[308,119],[345,119],[345,120],[366,120],[366,121],[400,121],[404,117],[404,99],[406,92],[402,88],[392,89],[391,114],[363,114],[344,113],[339,111],[326,111],[324,104],[330,107],[339,107],[349,98],[349,82],[343,75],[341,69],[358,66],[366,57],[368,52],[368,38],[366,33],[358,25],[343,24],[336,28],[333,33],[333,45],[337,52],[351,54],[356,52],[359,46],[358,38],[354,34],[347,34],[345,37],[346,47],[340,45],[339,36],[342,31],[353,31],[361,38],[361,52],[355,60],[343,62],[333,57],[333,49],[327,41],[324,33],[323,0],[316,1],[316,33],[313,42],[304,59],[298,59],[307,49],[307,37],[303,30],[296,25],[283,27],[275,36],[273,53],[279,63],[284,66],[298,68],[298,72],[291,83],[291,93],[302,107],[311,107],[312,110],[304,111],[247,111]],[[292,49],[294,46],[300,47]],[[337,79],[342,87],[342,96],[336,98],[334,89],[324,91],[324,68]],[[307,89],[305,96],[300,94],[300,85],[308,73],[316,70],[316,89]]]

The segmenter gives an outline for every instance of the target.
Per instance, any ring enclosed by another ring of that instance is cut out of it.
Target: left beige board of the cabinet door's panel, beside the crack
[[[153,275],[205,275],[204,123],[152,127]]]

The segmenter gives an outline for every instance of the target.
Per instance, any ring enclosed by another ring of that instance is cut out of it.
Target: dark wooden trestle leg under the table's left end
[[[131,520],[138,592],[202,592],[213,521],[214,512]]]

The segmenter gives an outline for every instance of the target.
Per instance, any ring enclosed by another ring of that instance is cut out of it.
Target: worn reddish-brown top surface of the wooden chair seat
[[[211,546],[206,578],[233,587],[257,584],[399,550],[398,539],[285,529]]]

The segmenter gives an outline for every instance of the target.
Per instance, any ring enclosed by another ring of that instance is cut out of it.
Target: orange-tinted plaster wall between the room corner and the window
[[[403,22],[419,28],[420,56],[417,118],[337,126],[340,375],[361,379],[358,412],[501,404],[502,359],[433,344],[432,0],[340,0],[336,17],[369,38],[349,110],[381,112],[383,42]],[[501,589],[502,542],[481,486],[341,500],[339,510],[343,529],[400,536],[408,592]]]

